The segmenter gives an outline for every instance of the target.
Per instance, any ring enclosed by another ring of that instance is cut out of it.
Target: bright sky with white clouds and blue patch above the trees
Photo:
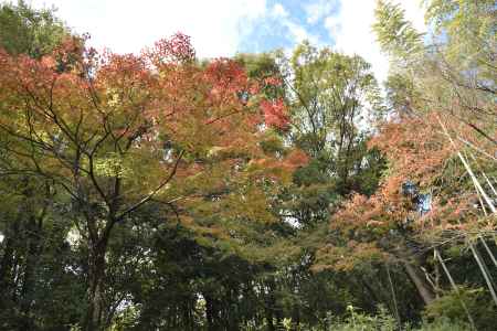
[[[406,17],[425,30],[420,0],[400,2]],[[6,2],[6,0],[0,0]],[[376,0],[28,0],[55,7],[94,46],[139,52],[177,31],[189,34],[202,57],[236,52],[290,50],[307,39],[319,46],[359,54],[382,81],[388,58],[371,32]]]

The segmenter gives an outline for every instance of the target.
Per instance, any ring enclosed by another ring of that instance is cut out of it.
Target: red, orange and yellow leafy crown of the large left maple
[[[140,55],[101,55],[67,40],[41,61],[2,52],[0,66],[1,128],[29,142],[12,152],[43,175],[92,178],[91,190],[107,204],[114,193],[99,181],[114,177],[119,196],[139,201],[175,172],[170,189],[156,192],[171,200],[230,192],[242,178],[256,184],[305,162],[294,152],[287,163],[286,151],[266,154],[260,147],[262,124],[287,125],[283,100],[258,95],[258,84],[233,61],[199,65],[183,34]]]

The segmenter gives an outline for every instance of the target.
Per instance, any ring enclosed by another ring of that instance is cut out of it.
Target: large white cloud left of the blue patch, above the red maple
[[[266,0],[32,0],[59,8],[75,32],[89,32],[91,44],[118,53],[144,46],[181,31],[192,38],[202,57],[230,56],[255,19],[266,14]]]

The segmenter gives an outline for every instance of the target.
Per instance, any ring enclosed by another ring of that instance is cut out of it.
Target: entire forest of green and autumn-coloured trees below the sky
[[[0,3],[0,330],[496,330],[497,3],[376,6],[384,83]]]

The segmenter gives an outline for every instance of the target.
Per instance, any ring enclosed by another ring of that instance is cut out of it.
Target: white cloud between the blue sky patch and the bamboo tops
[[[372,65],[382,82],[389,70],[388,57],[380,52],[371,25],[374,23],[376,0],[341,0],[340,11],[326,18],[325,26],[335,40],[335,47],[346,54],[358,54]],[[426,31],[424,11],[414,0],[398,0],[405,9],[406,19],[420,31]]]

